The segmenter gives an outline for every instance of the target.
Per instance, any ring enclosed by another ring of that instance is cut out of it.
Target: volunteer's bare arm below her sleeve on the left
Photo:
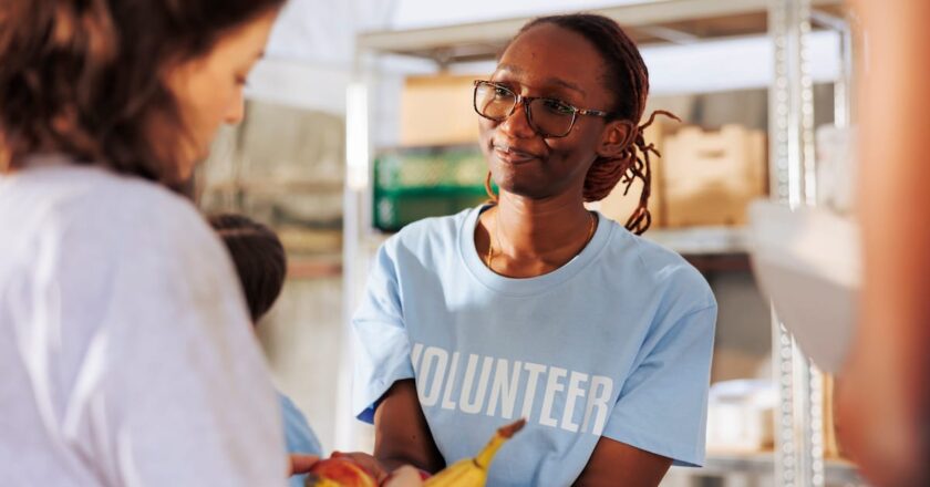
[[[413,465],[436,473],[445,467],[412,379],[395,382],[374,412],[374,457],[386,470]]]

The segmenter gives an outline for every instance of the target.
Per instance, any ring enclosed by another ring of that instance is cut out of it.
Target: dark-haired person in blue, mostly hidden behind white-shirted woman
[[[275,231],[244,215],[211,215],[208,220],[232,258],[252,325],[257,327],[285,287],[288,269],[285,247]],[[277,394],[288,453],[321,456],[323,448],[303,413],[282,392]],[[303,487],[303,477],[292,476],[291,486]]]

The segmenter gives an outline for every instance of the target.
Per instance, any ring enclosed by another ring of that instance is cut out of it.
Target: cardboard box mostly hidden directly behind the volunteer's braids
[[[660,121],[655,121],[643,134],[645,143],[653,144],[655,149],[662,155],[664,155],[662,143],[665,131],[665,126]],[[661,190],[662,158],[657,157],[655,154],[650,154],[650,163],[652,167],[652,193],[649,196],[649,211],[652,214],[652,226],[650,228],[658,228],[663,226],[662,215],[664,214]],[[603,216],[620,225],[626,225],[630,215],[633,214],[637,205],[639,205],[640,195],[642,194],[642,182],[639,179],[634,180],[626,196],[623,195],[624,189],[626,185],[618,183],[617,187],[606,198],[589,204],[588,208],[600,211]]]

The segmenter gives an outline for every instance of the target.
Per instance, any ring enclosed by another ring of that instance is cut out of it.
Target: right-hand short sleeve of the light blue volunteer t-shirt
[[[603,436],[672,458],[704,462],[716,305],[692,311],[647,339]]]

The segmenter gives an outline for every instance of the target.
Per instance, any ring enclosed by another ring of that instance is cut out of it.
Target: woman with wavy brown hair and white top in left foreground
[[[285,485],[232,266],[166,188],[283,1],[0,2],[0,485]]]

